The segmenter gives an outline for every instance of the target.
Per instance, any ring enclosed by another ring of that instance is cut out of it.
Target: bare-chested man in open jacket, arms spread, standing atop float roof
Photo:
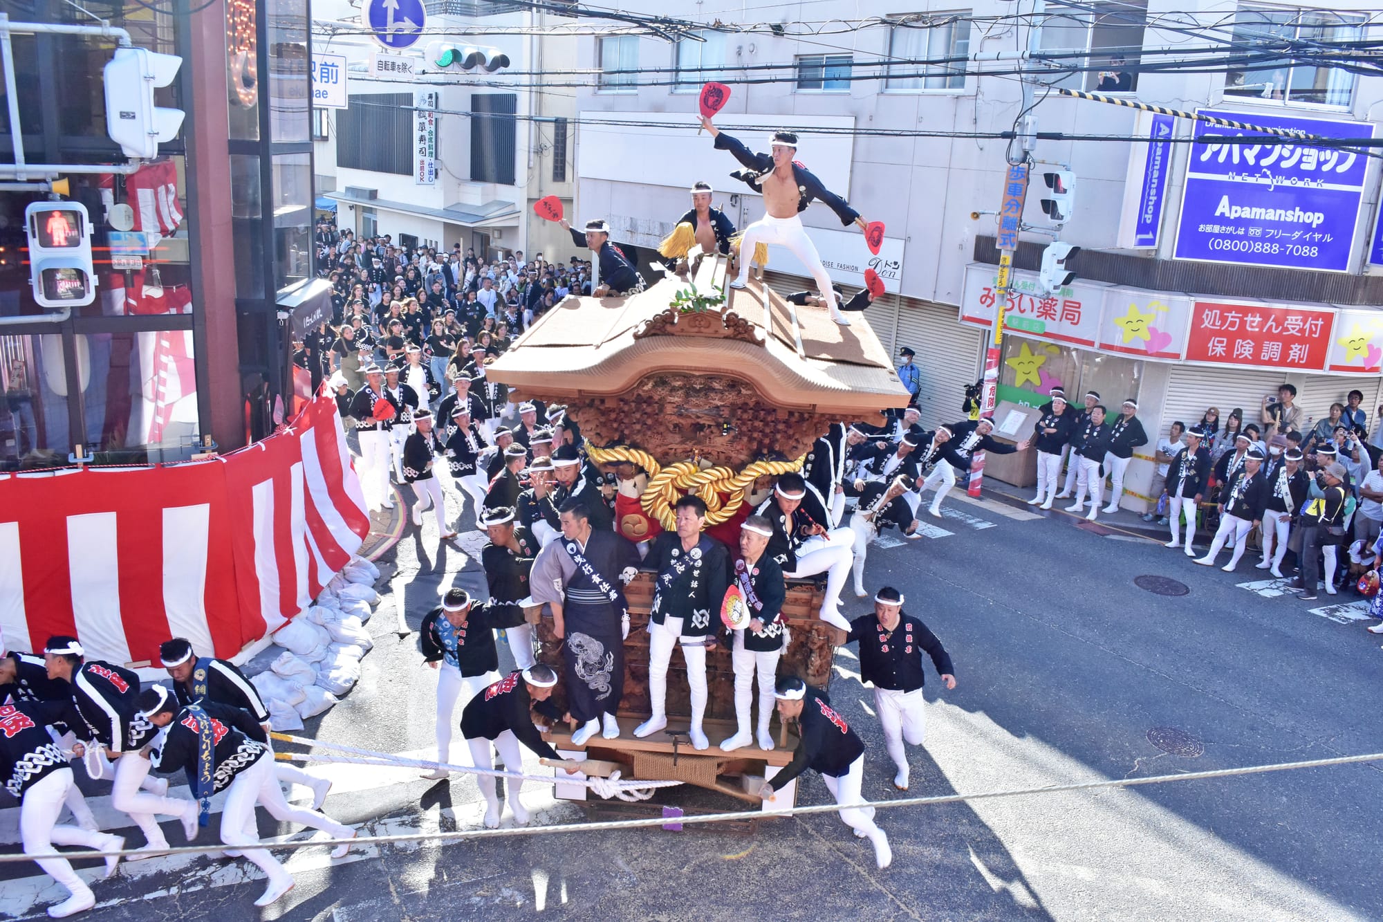
[[[812,271],[816,288],[822,292],[822,299],[831,309],[831,320],[841,327],[849,327],[851,321],[841,313],[841,306],[835,302],[835,291],[831,288],[831,277],[822,264],[822,256],[816,252],[816,244],[806,235],[802,219],[798,212],[806,210],[813,198],[819,198],[835,212],[841,224],[857,224],[864,230],[864,219],[851,208],[851,204],[813,176],[805,166],[792,162],[797,156],[797,134],[791,132],[774,132],[772,154],[755,154],[741,141],[730,137],[711,123],[711,119],[701,119],[701,127],[715,138],[719,151],[730,151],[747,169],[732,173],[736,179],[744,180],[750,188],[763,194],[763,217],[744,228],[740,241],[740,274],[730,288],[744,288],[750,277],[750,259],[757,244],[779,244],[787,246],[798,262]]]

